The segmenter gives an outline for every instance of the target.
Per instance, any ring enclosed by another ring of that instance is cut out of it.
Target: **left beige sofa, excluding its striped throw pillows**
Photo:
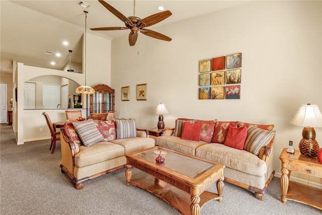
[[[113,129],[116,121],[93,121],[98,128],[102,128],[98,130],[104,139],[91,146],[82,143],[83,139],[71,122],[67,122],[61,129],[60,168],[76,189],[82,189],[87,180],[125,167],[125,154],[155,145],[154,139],[149,138],[148,131],[136,129],[135,124],[135,136],[116,138],[116,134],[121,136],[123,132],[121,129],[118,129],[120,132]]]

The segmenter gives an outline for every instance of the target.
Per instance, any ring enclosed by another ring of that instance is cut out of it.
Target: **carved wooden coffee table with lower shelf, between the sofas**
[[[155,162],[159,150],[167,153],[163,164]],[[163,147],[144,149],[125,157],[127,186],[132,184],[153,193],[181,214],[199,214],[202,206],[209,200],[222,200],[225,168],[222,164]],[[149,175],[131,180],[132,166]],[[215,182],[218,194],[205,191]]]

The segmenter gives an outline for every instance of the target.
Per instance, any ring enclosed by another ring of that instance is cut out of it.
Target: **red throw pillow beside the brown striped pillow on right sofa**
[[[232,127],[229,125],[224,145],[227,147],[243,150],[247,137],[247,127]]]

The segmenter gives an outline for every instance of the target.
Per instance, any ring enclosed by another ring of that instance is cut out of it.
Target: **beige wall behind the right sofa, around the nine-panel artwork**
[[[302,127],[289,124],[299,105],[317,104],[322,111],[321,2],[256,1],[151,29],[173,40],[139,34],[132,47],[127,36],[112,40],[117,117],[133,117],[139,128],[156,127],[153,112],[162,102],[169,127],[178,117],[275,124],[273,168],[279,175],[282,149],[289,140],[298,148],[301,139]],[[199,100],[199,60],[238,52],[243,53],[240,100]],[[136,85],[142,83],[147,101],[136,100]],[[130,86],[130,101],[121,101],[124,86]],[[322,147],[322,130],[315,130]]]

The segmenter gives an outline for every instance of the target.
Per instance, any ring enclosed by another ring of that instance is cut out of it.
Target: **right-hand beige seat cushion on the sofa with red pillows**
[[[227,147],[223,144],[206,144],[196,149],[196,156],[225,165],[251,175],[266,174],[266,162],[246,151]],[[225,171],[224,171],[225,172]]]

